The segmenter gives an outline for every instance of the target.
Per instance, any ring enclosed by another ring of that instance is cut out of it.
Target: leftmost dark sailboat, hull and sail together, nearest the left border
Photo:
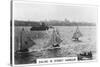
[[[29,53],[28,48],[33,45],[29,37],[26,37],[25,30],[22,28],[19,36],[18,50],[16,53]]]

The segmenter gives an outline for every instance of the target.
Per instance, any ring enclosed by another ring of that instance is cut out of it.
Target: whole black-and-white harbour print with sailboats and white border
[[[46,63],[38,59],[49,58],[96,60],[96,6],[28,0],[11,4],[13,65],[37,65]]]

